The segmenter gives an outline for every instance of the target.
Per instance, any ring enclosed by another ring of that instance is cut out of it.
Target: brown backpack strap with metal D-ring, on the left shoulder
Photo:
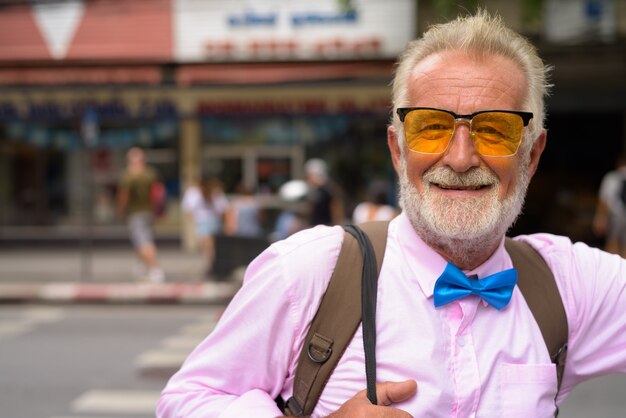
[[[388,221],[360,224],[376,254],[376,277],[387,243]],[[363,255],[359,242],[344,234],[326,293],[304,340],[285,415],[310,415],[330,375],[361,323]]]

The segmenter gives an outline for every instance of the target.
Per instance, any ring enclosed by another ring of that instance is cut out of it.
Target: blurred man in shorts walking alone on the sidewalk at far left
[[[118,184],[117,211],[119,216],[126,218],[130,240],[140,261],[137,273],[152,282],[162,282],[165,274],[159,267],[152,231],[152,195],[162,184],[156,171],[146,165],[141,148],[129,149],[126,160],[127,166]]]

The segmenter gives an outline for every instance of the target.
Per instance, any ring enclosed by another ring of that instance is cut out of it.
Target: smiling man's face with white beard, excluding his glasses
[[[434,107],[457,114],[528,110],[523,108],[524,74],[513,61],[500,56],[477,60],[462,52],[431,55],[413,69],[408,89],[407,107]],[[401,152],[398,141],[404,141],[404,132],[390,127],[388,136],[400,177],[401,204],[418,232],[439,242],[504,234],[521,210],[541,153],[529,156],[522,146],[510,157],[481,156],[464,122],[457,125],[442,154],[406,148]],[[539,142],[541,148],[543,138]]]

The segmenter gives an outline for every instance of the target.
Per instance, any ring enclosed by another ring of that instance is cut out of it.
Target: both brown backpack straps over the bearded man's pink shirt
[[[377,221],[359,225],[374,248],[377,273],[380,273],[384,257],[388,224],[388,221]],[[543,257],[530,245],[506,238],[505,247],[518,271],[517,285],[539,325],[550,358],[557,366],[560,388],[567,357],[568,325],[554,275]],[[328,288],[304,340],[295,372],[293,396],[286,403],[285,415],[311,414],[352,340],[361,322],[362,272],[360,244],[346,233]]]

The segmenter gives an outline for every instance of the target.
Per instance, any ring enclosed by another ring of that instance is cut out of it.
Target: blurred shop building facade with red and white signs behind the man
[[[125,236],[114,196],[131,146],[166,184],[164,237],[184,230],[180,196],[202,175],[273,208],[310,157],[329,162],[349,217],[368,182],[394,181],[393,63],[442,19],[436,3],[0,2],[0,239]],[[528,19],[531,2],[484,3],[554,65],[546,168],[518,228],[591,239],[595,188],[625,142],[626,5],[545,1]],[[548,198],[570,222],[533,204]]]

